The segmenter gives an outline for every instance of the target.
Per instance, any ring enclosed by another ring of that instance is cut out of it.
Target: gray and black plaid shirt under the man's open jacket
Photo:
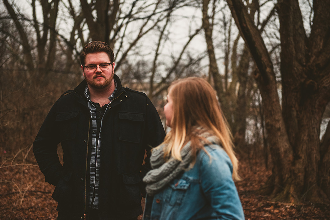
[[[115,93],[117,91],[117,83],[116,80],[115,82],[115,91],[109,96],[109,101],[114,99]],[[90,166],[89,166],[89,205],[92,208],[97,209],[99,205],[99,173],[100,173],[100,153],[101,153],[101,128],[102,128],[102,121],[103,121],[103,116],[109,109],[108,106],[110,105],[107,104],[106,110],[104,114],[102,115],[101,119],[101,124],[98,127],[97,126],[97,119],[96,119],[96,107],[94,106],[95,103],[93,103],[90,100],[90,95],[89,95],[89,90],[88,86],[85,88],[85,96],[88,100],[88,107],[90,110],[90,116],[92,119],[92,147],[91,147],[91,157],[90,157]],[[97,138],[97,133],[98,138]]]

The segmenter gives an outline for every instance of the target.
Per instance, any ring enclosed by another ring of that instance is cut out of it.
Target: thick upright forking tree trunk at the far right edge
[[[320,63],[322,59],[318,54],[328,46],[325,41],[328,41],[329,3],[314,1],[310,39],[305,34],[298,1],[281,0],[278,3],[283,118],[295,157],[292,186],[299,196],[319,202],[323,202],[323,192],[318,183],[319,134],[329,89],[320,93],[319,86],[324,83],[320,79],[327,77],[328,72],[322,73],[327,64]],[[329,52],[325,54],[329,58]],[[322,87],[329,87],[329,84]]]

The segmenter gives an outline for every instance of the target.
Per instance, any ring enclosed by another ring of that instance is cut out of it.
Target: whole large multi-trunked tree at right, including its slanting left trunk
[[[314,1],[314,19],[308,38],[298,0],[279,0],[281,34],[282,111],[269,53],[241,0],[227,0],[240,33],[258,67],[255,78],[263,99],[273,174],[268,193],[276,200],[325,202],[318,175],[320,123],[330,100],[330,1]],[[328,151],[328,146],[325,152]],[[328,154],[326,156],[328,158]],[[326,165],[325,164],[325,165]],[[329,175],[328,175],[329,176]],[[327,177],[328,177],[327,176]],[[323,178],[324,179],[324,178]],[[323,189],[325,181],[322,183]],[[329,186],[329,182],[327,183]],[[328,194],[329,195],[329,194]]]

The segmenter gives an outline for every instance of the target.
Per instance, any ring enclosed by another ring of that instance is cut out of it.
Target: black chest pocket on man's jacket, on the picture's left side
[[[79,112],[60,112],[57,113],[55,122],[58,126],[60,141],[74,139],[78,127]]]

